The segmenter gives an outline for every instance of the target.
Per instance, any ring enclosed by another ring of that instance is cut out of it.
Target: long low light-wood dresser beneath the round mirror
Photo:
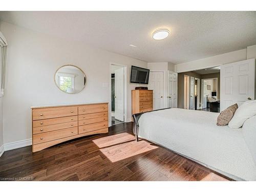
[[[32,107],[32,150],[82,136],[108,133],[108,103]]]

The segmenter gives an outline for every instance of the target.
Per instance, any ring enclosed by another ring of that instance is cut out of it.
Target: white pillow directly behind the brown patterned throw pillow
[[[234,113],[233,118],[229,121],[228,126],[231,128],[239,128],[244,122],[256,115],[256,100],[244,102]]]

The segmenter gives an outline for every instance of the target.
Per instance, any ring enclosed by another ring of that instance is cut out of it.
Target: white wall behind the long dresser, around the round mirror
[[[32,137],[31,106],[109,102],[111,62],[127,65],[127,118],[131,119],[131,90],[137,86],[130,83],[131,65],[146,68],[146,62],[8,23],[3,23],[2,32],[9,45],[3,97],[4,143]],[[63,93],[54,83],[55,71],[67,64],[86,73],[87,85],[80,93]]]

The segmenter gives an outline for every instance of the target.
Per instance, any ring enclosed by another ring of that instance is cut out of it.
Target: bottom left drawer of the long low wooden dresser
[[[78,134],[78,128],[72,127],[65,130],[52,131],[33,135],[33,144],[43,143],[65,137],[70,137]]]

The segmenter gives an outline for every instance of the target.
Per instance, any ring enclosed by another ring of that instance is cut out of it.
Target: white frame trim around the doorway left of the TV
[[[123,74],[124,74],[124,93],[123,93],[123,101],[124,101],[124,122],[127,122],[127,66],[126,65],[122,65],[119,63],[115,63],[115,62],[110,62],[110,67],[109,67],[109,109],[112,109],[112,100],[111,100],[111,66],[119,66],[119,67],[123,67]],[[112,119],[111,119],[111,110],[109,110],[109,127],[112,126],[111,123]]]

